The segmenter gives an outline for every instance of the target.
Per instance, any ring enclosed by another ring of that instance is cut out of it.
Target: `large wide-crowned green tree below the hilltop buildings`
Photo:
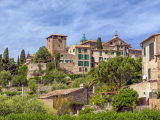
[[[95,68],[96,80],[114,84],[115,89],[125,85],[127,80],[134,76],[135,60],[129,57],[114,57],[107,62],[102,62]]]

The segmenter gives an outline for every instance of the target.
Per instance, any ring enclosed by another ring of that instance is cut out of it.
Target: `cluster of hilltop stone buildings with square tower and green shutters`
[[[63,41],[59,39],[63,37]],[[80,45],[72,45],[66,48],[65,35],[53,34],[47,38],[47,48],[52,54],[60,52],[60,67],[64,68],[67,73],[86,74],[90,68],[97,67],[101,62],[107,61],[116,56],[117,49],[120,56],[130,56],[138,58],[141,56],[141,50],[131,49],[131,44],[127,44],[118,37],[116,33],[114,38],[103,43],[103,49],[94,49],[96,41],[87,40],[85,34],[80,40]],[[54,41],[54,42],[53,42]],[[61,48],[57,48],[57,46]],[[52,47],[51,47],[52,46]]]

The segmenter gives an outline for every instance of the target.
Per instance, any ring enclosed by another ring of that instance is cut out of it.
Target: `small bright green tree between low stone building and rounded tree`
[[[103,103],[107,103],[108,102],[109,97],[107,95],[101,95],[97,92],[94,96],[92,96],[92,98],[89,100],[89,104],[93,105],[93,103],[95,105],[101,106],[103,105]]]

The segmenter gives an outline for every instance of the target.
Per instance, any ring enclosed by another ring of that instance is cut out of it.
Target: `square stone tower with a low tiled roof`
[[[47,49],[54,55],[56,52],[65,52],[66,51],[66,35],[53,34],[47,39]]]

